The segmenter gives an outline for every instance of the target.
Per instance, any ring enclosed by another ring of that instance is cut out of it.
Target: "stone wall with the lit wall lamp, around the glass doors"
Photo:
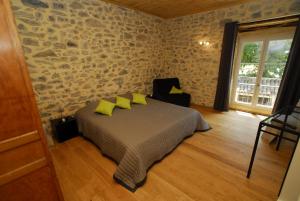
[[[224,24],[250,22],[300,13],[299,0],[260,0],[211,12],[178,17],[164,22],[165,68],[161,76],[177,76],[192,102],[214,103]],[[203,47],[198,41],[209,41]]]

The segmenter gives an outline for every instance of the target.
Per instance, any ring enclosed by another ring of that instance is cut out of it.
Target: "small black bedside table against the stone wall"
[[[50,121],[54,137],[58,142],[64,142],[79,135],[77,121],[68,116]]]

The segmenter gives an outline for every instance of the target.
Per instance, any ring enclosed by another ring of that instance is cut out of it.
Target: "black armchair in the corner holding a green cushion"
[[[153,80],[152,98],[176,105],[181,105],[184,107],[189,107],[191,102],[191,95],[187,93],[170,94],[170,90],[173,86],[180,89],[178,78]]]

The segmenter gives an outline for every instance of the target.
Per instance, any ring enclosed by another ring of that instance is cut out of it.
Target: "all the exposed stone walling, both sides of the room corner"
[[[164,20],[101,0],[11,0],[44,125],[87,102],[151,92],[178,76],[192,101],[212,106],[224,24],[300,12],[299,0],[260,0]],[[207,40],[207,48],[198,44]]]

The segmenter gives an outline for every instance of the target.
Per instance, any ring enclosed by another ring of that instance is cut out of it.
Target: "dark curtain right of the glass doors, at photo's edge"
[[[295,107],[300,98],[300,19],[292,42],[273,113],[285,106]]]

